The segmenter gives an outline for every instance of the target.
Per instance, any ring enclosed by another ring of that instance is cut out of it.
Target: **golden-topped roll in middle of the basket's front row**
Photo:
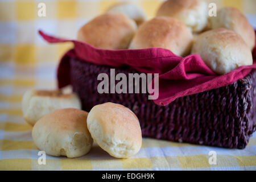
[[[179,56],[186,56],[191,51],[193,35],[179,20],[158,16],[143,23],[129,49],[165,48]]]

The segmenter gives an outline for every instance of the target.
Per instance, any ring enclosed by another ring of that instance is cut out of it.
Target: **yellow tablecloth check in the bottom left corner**
[[[0,170],[31,170],[32,159],[0,160]]]

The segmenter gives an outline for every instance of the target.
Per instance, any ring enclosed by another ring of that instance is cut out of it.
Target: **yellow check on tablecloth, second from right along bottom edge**
[[[177,156],[182,168],[210,167],[206,155]]]

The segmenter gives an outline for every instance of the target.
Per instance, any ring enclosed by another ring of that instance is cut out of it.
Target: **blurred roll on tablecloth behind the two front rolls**
[[[68,107],[81,109],[80,100],[75,93],[63,94],[61,90],[28,90],[22,98],[23,117],[32,126],[44,115]]]

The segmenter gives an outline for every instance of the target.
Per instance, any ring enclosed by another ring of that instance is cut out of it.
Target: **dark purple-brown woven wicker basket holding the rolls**
[[[256,71],[232,85],[177,98],[167,106],[156,105],[147,94],[99,94],[99,73],[110,68],[71,59],[71,83],[90,111],[94,105],[114,102],[129,107],[141,123],[143,137],[218,146],[245,148],[256,128]],[[115,68],[115,73],[138,73]]]

